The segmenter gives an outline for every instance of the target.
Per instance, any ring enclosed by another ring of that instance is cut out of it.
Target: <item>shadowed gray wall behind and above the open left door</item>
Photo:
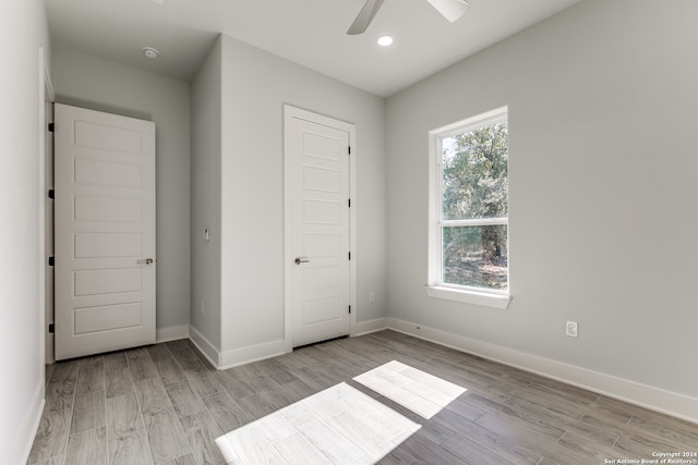
[[[155,122],[157,328],[189,326],[189,84],[53,48],[58,102]]]

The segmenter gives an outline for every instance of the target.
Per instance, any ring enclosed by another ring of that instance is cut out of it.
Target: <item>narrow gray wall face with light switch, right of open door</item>
[[[220,350],[220,40],[191,86],[191,326]],[[204,243],[204,230],[209,242]],[[201,303],[204,313],[201,313]]]

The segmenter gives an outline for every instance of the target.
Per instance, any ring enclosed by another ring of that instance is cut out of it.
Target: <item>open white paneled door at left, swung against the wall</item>
[[[155,342],[155,124],[56,105],[56,358]]]

